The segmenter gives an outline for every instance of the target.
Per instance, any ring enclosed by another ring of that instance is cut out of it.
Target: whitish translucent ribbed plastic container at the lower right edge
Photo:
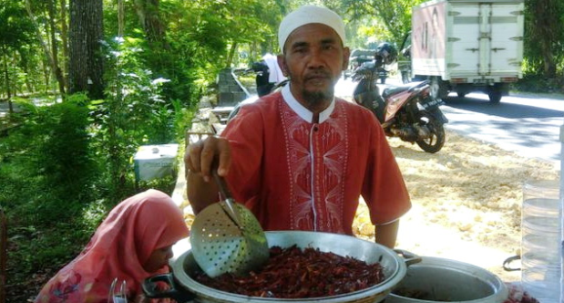
[[[521,283],[542,303],[560,298],[559,182],[528,181],[523,186]]]

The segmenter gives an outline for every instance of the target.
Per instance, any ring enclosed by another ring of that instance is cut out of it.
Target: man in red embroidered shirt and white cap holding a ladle
[[[222,138],[187,148],[194,212],[220,200],[210,182],[217,165],[235,200],[265,230],[353,235],[362,194],[376,242],[394,247],[399,217],[411,203],[374,115],[334,98],[350,53],[343,20],[327,8],[306,5],[284,17],[278,38],[278,63],[290,84],[242,107]]]

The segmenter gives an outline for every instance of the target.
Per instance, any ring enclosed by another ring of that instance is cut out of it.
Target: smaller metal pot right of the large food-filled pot
[[[501,303],[508,288],[484,268],[440,257],[422,256],[385,303]]]

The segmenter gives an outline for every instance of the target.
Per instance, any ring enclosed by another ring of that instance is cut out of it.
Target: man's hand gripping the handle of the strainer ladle
[[[184,164],[190,173],[200,175],[205,182],[210,182],[212,169],[217,168],[220,176],[227,176],[231,166],[229,141],[210,136],[188,145],[184,153]]]

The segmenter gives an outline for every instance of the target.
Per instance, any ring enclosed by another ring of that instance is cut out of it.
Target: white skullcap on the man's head
[[[284,44],[286,44],[290,34],[296,28],[312,23],[321,23],[333,28],[344,43],[344,23],[341,16],[326,7],[303,5],[285,16],[280,23],[280,27],[278,27],[278,44],[282,53],[284,52]]]

